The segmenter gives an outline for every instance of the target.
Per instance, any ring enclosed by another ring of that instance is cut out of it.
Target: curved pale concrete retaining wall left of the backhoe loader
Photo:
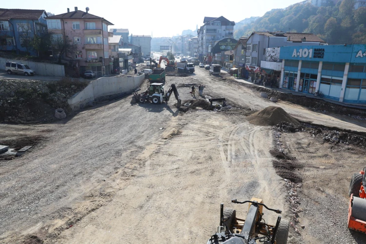
[[[144,75],[135,77],[102,77],[90,82],[84,90],[67,100],[73,111],[83,109],[89,101],[98,101],[132,93],[141,86]]]

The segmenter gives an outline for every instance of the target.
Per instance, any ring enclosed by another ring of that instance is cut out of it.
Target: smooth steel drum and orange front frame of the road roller
[[[349,229],[366,234],[366,199],[351,195],[347,224]]]

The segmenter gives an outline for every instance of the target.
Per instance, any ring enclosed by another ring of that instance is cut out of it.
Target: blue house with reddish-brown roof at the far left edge
[[[47,33],[44,10],[0,8],[0,50],[37,55],[30,42]]]

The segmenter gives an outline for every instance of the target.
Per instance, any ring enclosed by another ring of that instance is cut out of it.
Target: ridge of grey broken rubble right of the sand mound
[[[326,142],[334,144],[344,143],[346,145],[352,144],[355,146],[366,147],[366,136],[352,134],[351,132],[345,132],[335,129],[326,129],[316,127],[310,131],[312,137],[322,138]]]

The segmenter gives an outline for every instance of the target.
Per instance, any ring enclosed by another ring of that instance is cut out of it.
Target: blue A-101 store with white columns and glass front
[[[280,88],[366,104],[366,44],[282,46]]]

